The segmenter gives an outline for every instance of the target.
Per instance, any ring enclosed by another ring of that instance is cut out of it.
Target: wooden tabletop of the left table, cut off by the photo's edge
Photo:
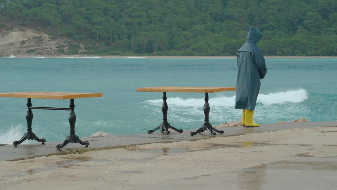
[[[39,98],[39,99],[75,99],[102,97],[102,93],[78,93],[78,92],[7,92],[0,93],[0,97],[10,98]]]

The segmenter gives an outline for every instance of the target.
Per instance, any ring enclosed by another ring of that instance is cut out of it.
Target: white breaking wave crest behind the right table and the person
[[[283,104],[283,103],[299,103],[308,99],[307,91],[304,89],[300,90],[292,90],[286,92],[279,93],[271,93],[271,94],[259,94],[257,97],[257,103],[262,103],[263,105],[270,104]],[[233,97],[216,97],[210,98],[210,103],[212,103],[212,107],[229,107],[235,106],[235,96]],[[156,100],[147,100],[147,103],[158,105],[162,103],[162,99]],[[182,99],[179,97],[176,98],[167,98],[167,104],[169,106],[177,106],[177,107],[195,107],[201,106],[205,103],[204,98],[188,98]]]

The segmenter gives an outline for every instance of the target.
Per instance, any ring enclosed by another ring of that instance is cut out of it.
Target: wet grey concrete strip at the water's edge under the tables
[[[303,122],[303,123],[279,123],[279,124],[263,124],[260,127],[245,128],[245,127],[225,127],[219,128],[219,130],[224,130],[223,135],[216,135],[215,137],[224,136],[235,136],[247,133],[263,133],[268,131],[292,129],[292,128],[308,128],[308,127],[325,127],[325,126],[335,126],[337,127],[337,122]],[[197,128],[197,127],[196,127]],[[79,130],[79,129],[78,129]],[[50,156],[50,155],[64,155],[71,152],[86,152],[90,150],[100,150],[100,149],[111,149],[119,147],[128,147],[135,144],[149,144],[155,142],[173,142],[181,140],[198,140],[211,138],[209,132],[204,132],[203,134],[197,134],[190,136],[190,132],[195,132],[194,130],[185,130],[183,133],[177,133],[172,131],[170,135],[164,133],[153,133],[153,134],[131,134],[131,135],[113,135],[113,136],[100,136],[100,137],[89,137],[83,138],[83,141],[89,141],[90,145],[85,148],[80,144],[68,144],[66,147],[62,148],[62,151],[57,151],[56,144],[61,144],[63,141],[58,142],[47,142],[42,145],[41,143],[18,145],[14,147],[13,145],[3,145],[0,146],[0,161],[1,160],[20,160],[25,158],[34,158],[37,156]],[[38,132],[37,132],[38,135]],[[64,137],[65,138],[65,137]],[[160,150],[162,151],[162,150]],[[174,151],[174,150],[168,150]],[[179,150],[175,150],[179,151]]]

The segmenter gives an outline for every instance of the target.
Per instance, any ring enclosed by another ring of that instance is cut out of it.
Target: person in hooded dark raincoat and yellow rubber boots
[[[248,31],[246,43],[237,55],[238,77],[236,81],[235,109],[243,109],[242,126],[258,127],[253,121],[255,104],[261,86],[261,78],[267,73],[265,58],[256,46],[262,33],[256,28]]]

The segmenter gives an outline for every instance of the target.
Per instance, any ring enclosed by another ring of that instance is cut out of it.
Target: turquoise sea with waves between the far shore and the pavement
[[[260,124],[337,120],[336,58],[268,58],[254,120]],[[235,58],[0,58],[0,92],[99,92],[75,99],[76,134],[146,133],[162,120],[160,92],[151,86],[235,87]],[[235,92],[210,93],[210,123],[241,118]],[[203,93],[167,93],[168,122],[181,129],[203,124]],[[0,143],[26,131],[25,98],[0,97]],[[32,99],[33,106],[65,107],[69,100]],[[33,132],[48,141],[69,135],[67,111],[33,110]],[[32,141],[25,143],[32,143]]]

